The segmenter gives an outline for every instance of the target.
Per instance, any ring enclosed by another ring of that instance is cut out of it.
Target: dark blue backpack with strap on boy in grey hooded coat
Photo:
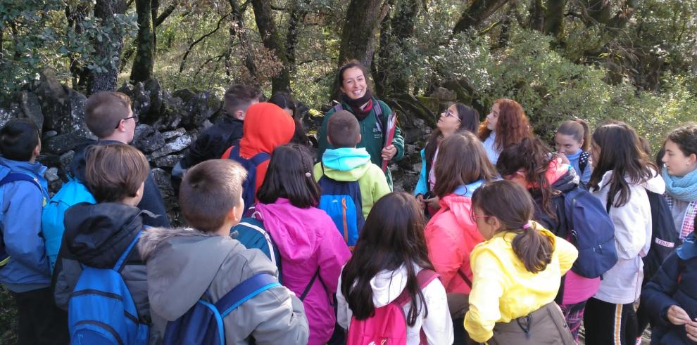
[[[258,273],[239,283],[215,303],[199,299],[187,313],[167,324],[163,344],[225,345],[223,319],[245,301],[280,286],[273,275]]]

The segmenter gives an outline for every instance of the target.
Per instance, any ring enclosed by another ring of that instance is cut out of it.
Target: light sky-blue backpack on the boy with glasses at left
[[[51,263],[51,272],[56,266],[58,251],[61,249],[61,240],[63,240],[65,232],[65,225],[63,225],[65,210],[80,202],[96,204],[94,196],[89,193],[84,184],[77,178],[68,178],[68,182],[61,187],[61,190],[58,190],[54,197],[51,197],[41,214],[41,230],[46,242],[46,256],[49,257]]]

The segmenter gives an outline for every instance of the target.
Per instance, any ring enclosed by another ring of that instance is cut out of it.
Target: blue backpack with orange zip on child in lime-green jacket
[[[324,170],[322,164],[322,177],[318,181],[322,190],[319,208],[332,217],[339,233],[344,236],[348,249],[353,250],[358,241],[358,233],[365,224],[360,186],[358,181],[336,181],[329,178],[323,174]]]

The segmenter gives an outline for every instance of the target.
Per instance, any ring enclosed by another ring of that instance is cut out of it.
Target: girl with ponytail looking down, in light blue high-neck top
[[[583,185],[588,184],[593,173],[590,162],[591,129],[582,119],[563,122],[554,135],[557,153],[565,155],[569,164],[574,167],[576,174],[581,177]]]

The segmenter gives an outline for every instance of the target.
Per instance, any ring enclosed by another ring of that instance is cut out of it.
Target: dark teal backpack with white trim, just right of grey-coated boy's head
[[[233,226],[230,233],[237,233],[234,239],[238,240],[247,249],[256,248],[263,252],[278,268],[278,281],[281,280],[281,256],[276,243],[264,228],[264,223],[256,218],[257,213],[251,217],[243,218]]]

